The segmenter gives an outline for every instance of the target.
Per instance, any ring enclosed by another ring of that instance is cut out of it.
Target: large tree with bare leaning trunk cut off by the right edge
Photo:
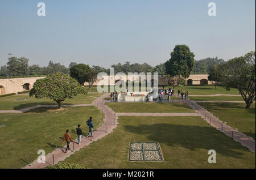
[[[246,108],[255,100],[255,52],[249,52],[220,65],[221,82],[227,90],[237,88]]]

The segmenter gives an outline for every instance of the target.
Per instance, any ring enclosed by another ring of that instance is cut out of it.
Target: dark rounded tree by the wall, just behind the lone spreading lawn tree
[[[84,85],[85,82],[89,82],[88,75],[92,72],[92,68],[89,65],[79,64],[71,67],[69,71],[72,78]]]

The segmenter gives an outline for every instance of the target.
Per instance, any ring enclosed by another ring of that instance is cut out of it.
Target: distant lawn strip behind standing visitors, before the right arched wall
[[[168,89],[169,87],[166,86],[164,88]],[[226,89],[221,86],[218,86],[216,89],[214,89],[214,85],[187,85],[183,87],[175,87],[175,94],[177,94],[179,89],[184,93],[185,91],[188,91],[189,95],[239,95],[238,89],[231,88],[230,91],[226,91]]]

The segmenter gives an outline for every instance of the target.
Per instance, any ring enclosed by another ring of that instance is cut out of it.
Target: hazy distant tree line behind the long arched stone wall
[[[29,59],[24,57],[9,57],[7,64],[5,66],[1,66],[0,68],[0,76],[7,76],[7,74],[9,74],[10,76],[51,75],[56,74],[56,72],[69,74],[70,68],[77,65],[76,62],[71,62],[69,67],[65,67],[60,63],[54,63],[53,61],[49,61],[48,66],[46,67],[41,67],[39,65],[28,66],[28,61]],[[191,73],[208,74],[210,68],[212,68],[213,66],[220,65],[223,62],[223,59],[218,59],[217,57],[195,61],[195,65],[193,65],[193,70],[191,71]],[[166,63],[160,63],[159,65],[151,66],[147,63],[139,64],[125,62],[123,64],[118,63],[116,65],[112,65],[111,67],[115,68],[115,73],[124,72],[125,74],[127,74],[128,72],[158,72],[158,74],[161,75],[168,74],[166,71]],[[92,66],[91,68],[95,71],[106,72],[106,74],[109,74],[109,68],[104,68],[101,66]]]

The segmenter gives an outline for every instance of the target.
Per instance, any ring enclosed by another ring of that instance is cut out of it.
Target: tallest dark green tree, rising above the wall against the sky
[[[171,76],[188,78],[195,63],[195,55],[187,45],[176,45],[166,65],[166,72]]]

